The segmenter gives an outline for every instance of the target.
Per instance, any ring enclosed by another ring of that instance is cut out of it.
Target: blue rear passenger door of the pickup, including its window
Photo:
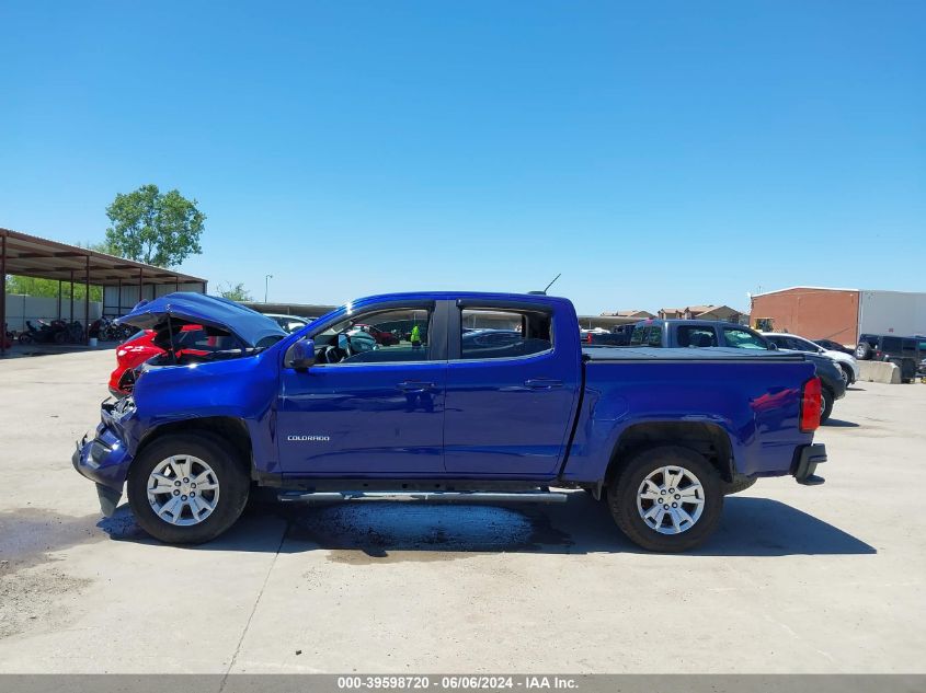
[[[578,331],[555,330],[548,304],[507,301],[458,301],[448,324],[447,474],[555,476],[579,396]]]

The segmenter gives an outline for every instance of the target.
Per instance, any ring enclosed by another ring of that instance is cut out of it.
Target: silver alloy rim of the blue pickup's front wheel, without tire
[[[218,477],[199,458],[171,455],[148,475],[148,503],[169,524],[198,524],[213,513],[218,499]]]

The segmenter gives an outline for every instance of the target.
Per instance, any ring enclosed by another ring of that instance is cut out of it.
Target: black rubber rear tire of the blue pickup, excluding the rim
[[[685,469],[697,477],[704,490],[700,517],[677,534],[663,534],[651,528],[637,507],[637,494],[643,481],[663,466]],[[713,465],[694,450],[676,446],[650,448],[631,458],[616,483],[608,485],[608,508],[620,531],[638,546],[671,553],[688,551],[707,541],[720,522],[723,480]]]

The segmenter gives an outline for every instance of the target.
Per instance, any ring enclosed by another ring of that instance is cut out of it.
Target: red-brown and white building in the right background
[[[926,335],[926,292],[790,287],[753,296],[752,321],[846,346],[860,334]]]

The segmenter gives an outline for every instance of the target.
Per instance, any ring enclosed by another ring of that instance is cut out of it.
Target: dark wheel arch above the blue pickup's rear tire
[[[733,448],[728,432],[708,421],[649,421],[628,426],[611,452],[605,484],[609,484],[635,454],[656,446],[678,446],[702,454],[717,469],[721,478],[735,477]]]

